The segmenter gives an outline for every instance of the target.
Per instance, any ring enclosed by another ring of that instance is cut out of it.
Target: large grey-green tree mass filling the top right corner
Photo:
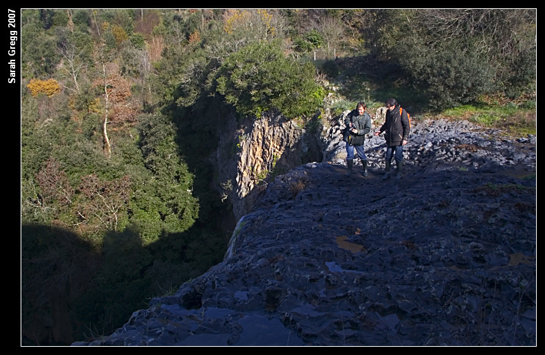
[[[533,9],[370,10],[370,49],[400,65],[398,76],[420,88],[433,108],[535,85]]]

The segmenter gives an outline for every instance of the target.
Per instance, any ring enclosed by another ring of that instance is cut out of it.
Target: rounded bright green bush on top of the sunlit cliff
[[[310,62],[286,58],[277,43],[250,44],[231,54],[217,74],[217,92],[241,115],[278,110],[286,117],[312,115],[323,91]]]

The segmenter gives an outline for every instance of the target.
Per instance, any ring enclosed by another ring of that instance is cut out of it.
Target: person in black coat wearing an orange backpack
[[[396,160],[396,179],[401,179],[401,173],[403,170],[403,146],[407,144],[409,134],[411,133],[409,116],[407,115],[407,111],[401,108],[395,99],[388,99],[386,101],[386,108],[387,111],[385,122],[374,134],[380,135],[381,133],[385,132],[386,172],[383,176],[383,180],[389,178],[392,158],[395,158]]]

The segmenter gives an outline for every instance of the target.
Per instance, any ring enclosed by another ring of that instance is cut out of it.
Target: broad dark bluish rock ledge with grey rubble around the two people
[[[334,144],[254,185],[223,262],[74,345],[536,345],[535,145],[424,122],[403,179],[383,181],[382,137],[366,141],[367,178],[344,175]],[[257,150],[261,166],[276,149]]]

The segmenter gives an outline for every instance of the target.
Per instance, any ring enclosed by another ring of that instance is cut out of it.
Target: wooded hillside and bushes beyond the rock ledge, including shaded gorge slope
[[[222,260],[235,221],[207,157],[228,113],[395,97],[535,133],[536,16],[21,10],[21,343],[111,333]]]

